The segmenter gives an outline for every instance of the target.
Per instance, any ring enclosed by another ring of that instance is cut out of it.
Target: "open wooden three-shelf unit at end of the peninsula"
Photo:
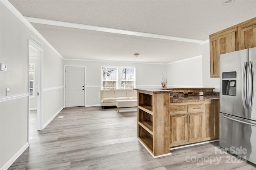
[[[169,105],[170,93],[138,90],[137,137],[154,156],[170,153]]]

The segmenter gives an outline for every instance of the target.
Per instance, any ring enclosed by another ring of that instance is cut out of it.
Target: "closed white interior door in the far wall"
[[[65,106],[84,106],[84,67],[66,66]]]

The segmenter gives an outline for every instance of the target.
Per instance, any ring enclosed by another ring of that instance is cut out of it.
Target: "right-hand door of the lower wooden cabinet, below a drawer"
[[[188,142],[200,142],[203,139],[203,114],[188,113]]]

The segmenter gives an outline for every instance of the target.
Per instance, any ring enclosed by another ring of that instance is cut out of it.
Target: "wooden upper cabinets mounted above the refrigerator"
[[[209,35],[211,78],[220,77],[220,55],[256,47],[256,18]]]

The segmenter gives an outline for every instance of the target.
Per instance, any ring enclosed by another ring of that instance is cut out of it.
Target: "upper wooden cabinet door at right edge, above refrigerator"
[[[256,18],[238,26],[239,50],[256,47]]]

